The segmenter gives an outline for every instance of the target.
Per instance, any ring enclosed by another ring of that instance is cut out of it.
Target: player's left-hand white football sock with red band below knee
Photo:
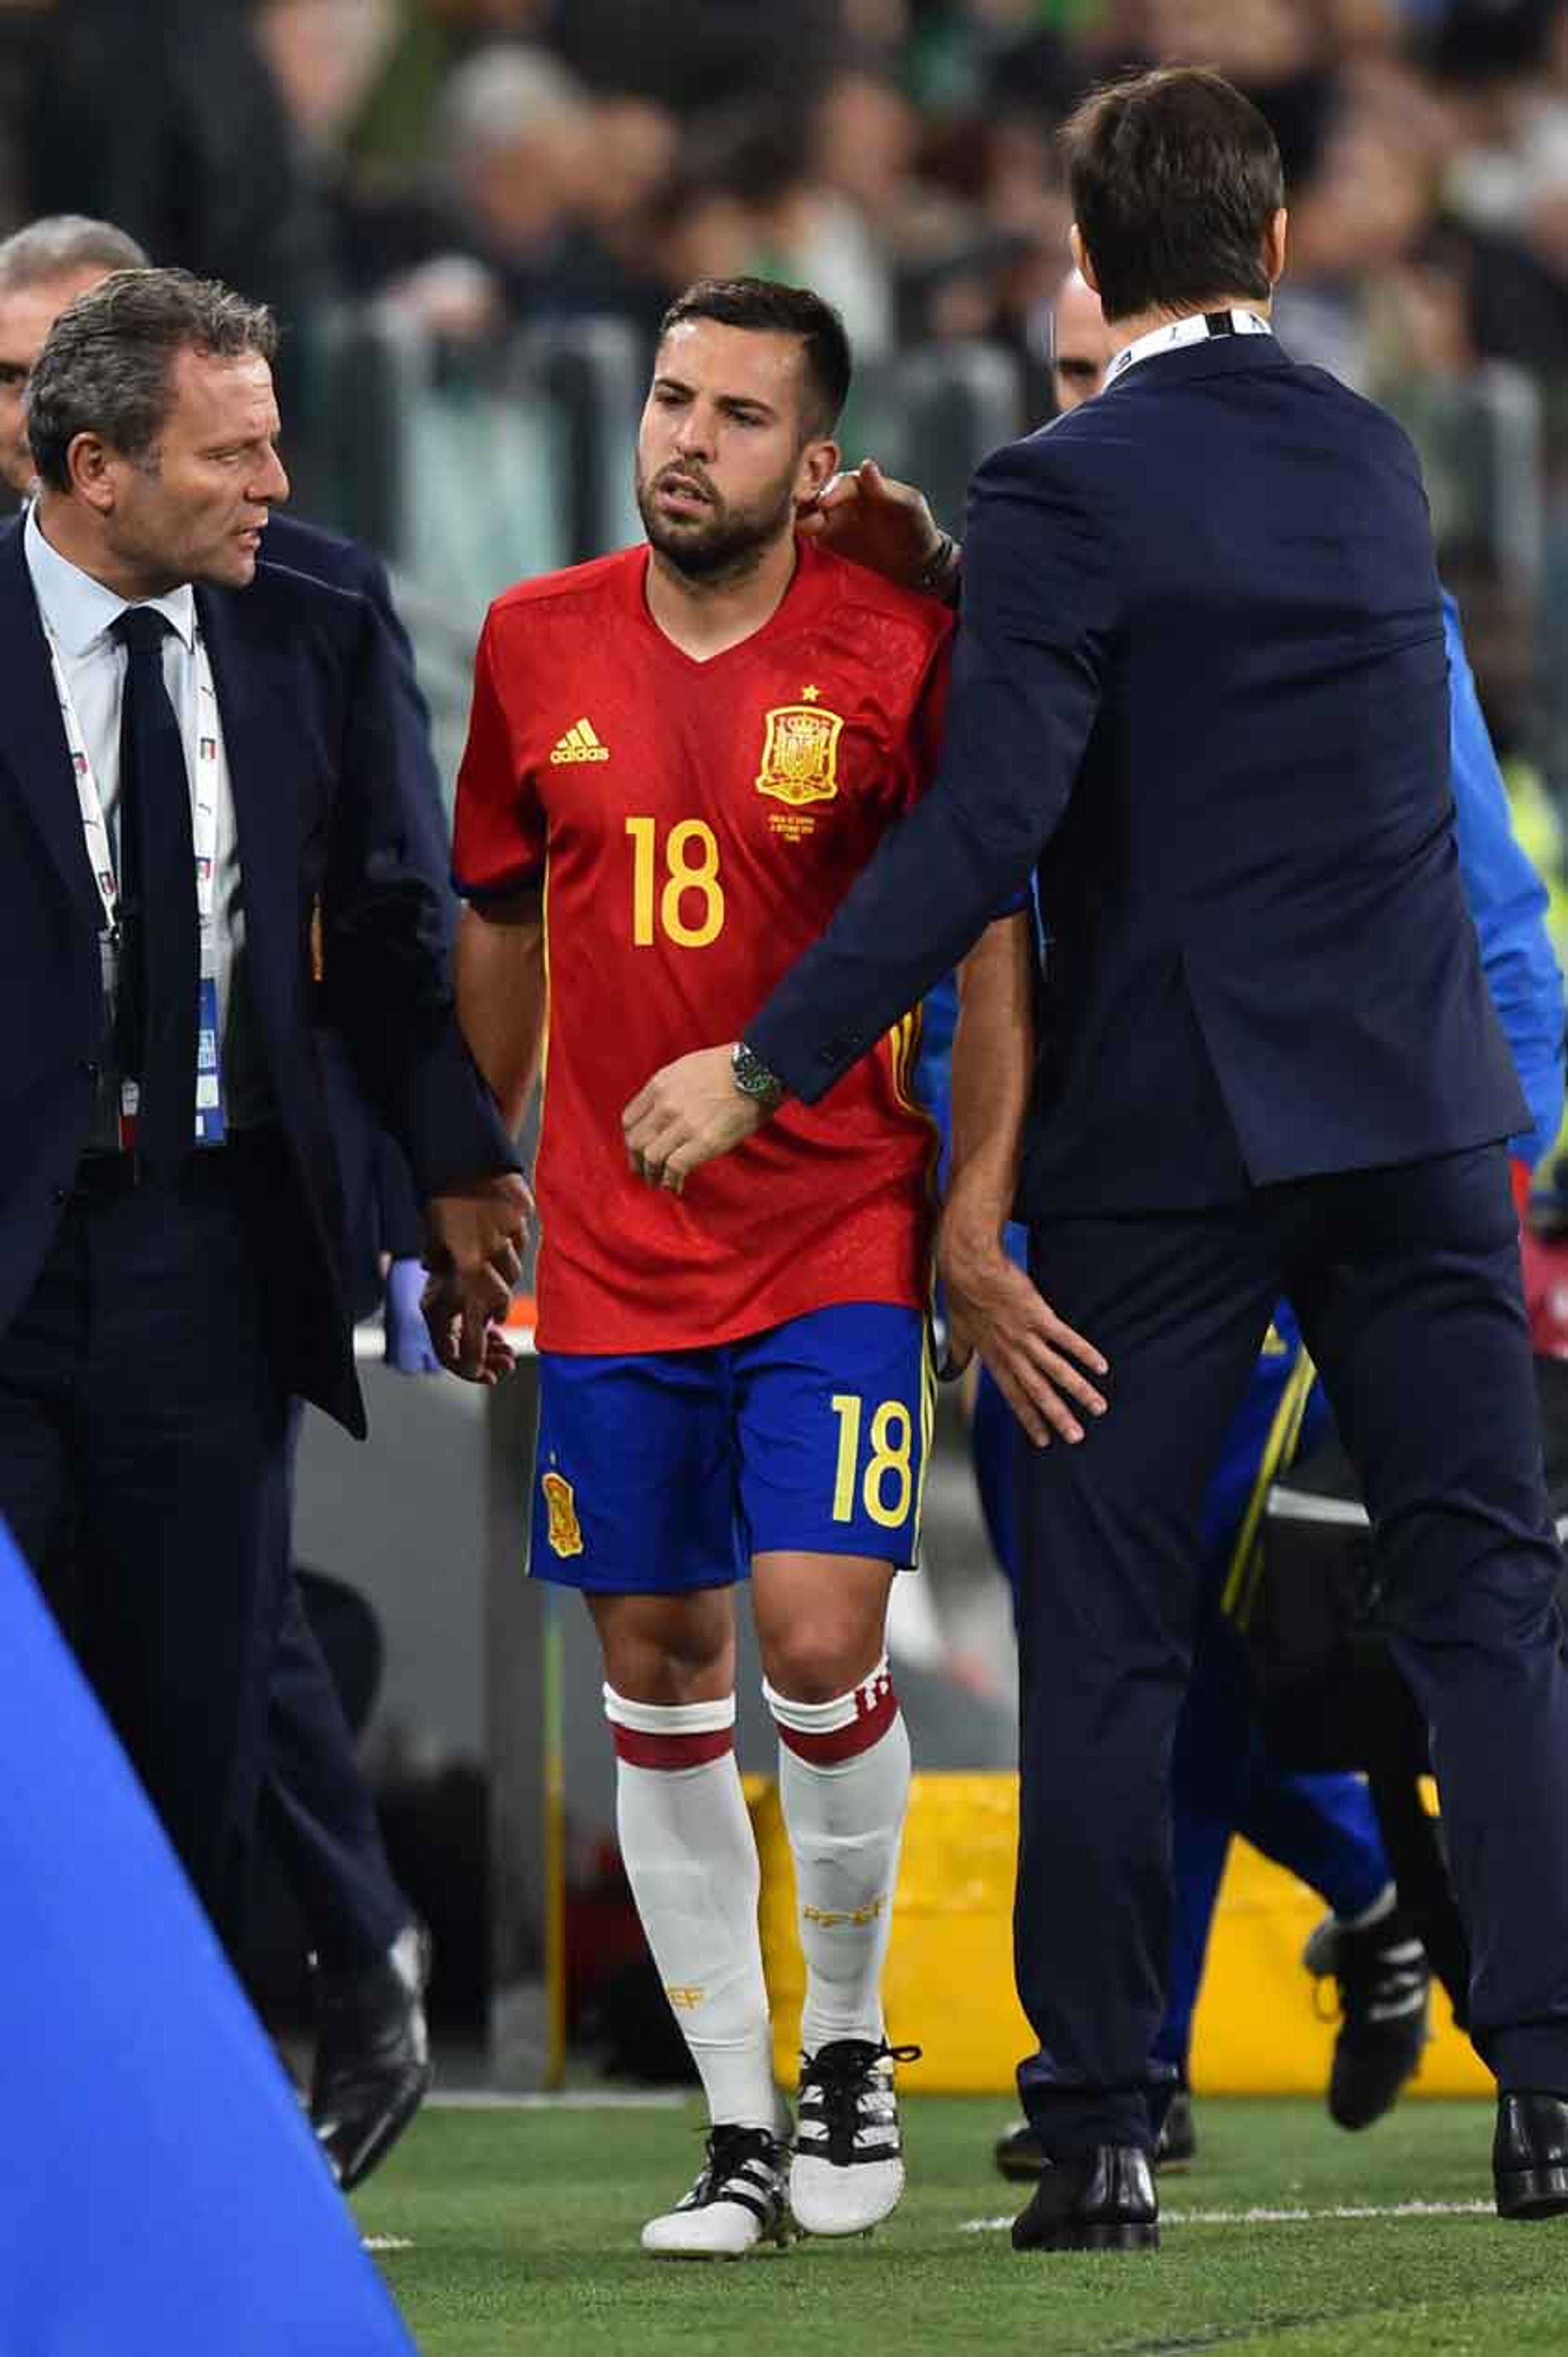
[[[620,1855],[712,2124],[776,2131],[762,1867],[736,1768],[736,1697],[665,1706],[606,1685],[604,1716]]]

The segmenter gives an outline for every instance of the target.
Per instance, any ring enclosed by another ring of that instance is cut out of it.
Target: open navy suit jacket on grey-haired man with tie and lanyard
[[[422,1195],[514,1167],[514,1153],[457,1030],[450,903],[373,606],[271,561],[252,587],[196,599],[233,783],[257,1039],[295,1181],[271,1207],[278,1376],[363,1431],[318,1023],[347,1039]],[[5,1332],[87,1138],[101,1039],[99,903],[17,523],[0,533],[0,662]]]

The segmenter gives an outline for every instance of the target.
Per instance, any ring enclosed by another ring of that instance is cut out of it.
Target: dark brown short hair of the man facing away
[[[1280,151],[1224,75],[1162,66],[1106,82],[1063,123],[1061,146],[1106,318],[1271,292]]]

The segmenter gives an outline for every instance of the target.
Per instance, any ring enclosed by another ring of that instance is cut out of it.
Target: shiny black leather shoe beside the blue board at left
[[[429,1933],[408,1923],[356,1973],[323,1973],[316,2001],[311,2126],[344,2192],[384,2161],[424,2102]]]

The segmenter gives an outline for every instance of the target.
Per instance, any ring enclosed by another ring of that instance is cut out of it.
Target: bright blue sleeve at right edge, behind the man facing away
[[[1460,634],[1443,599],[1460,882],[1481,943],[1485,988],[1514,1054],[1533,1129],[1509,1150],[1535,1167],[1563,1120],[1563,976],[1547,933],[1547,886],[1514,837],[1509,797]]]

